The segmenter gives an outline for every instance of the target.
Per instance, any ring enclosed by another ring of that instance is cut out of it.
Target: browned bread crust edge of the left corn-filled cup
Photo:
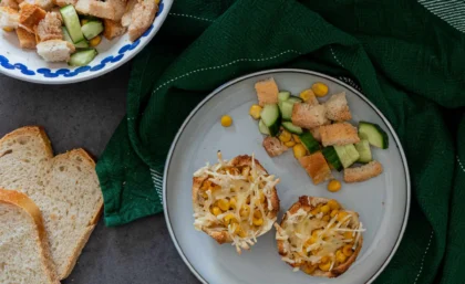
[[[248,156],[248,155],[241,155],[241,156],[237,156],[235,158],[232,158],[230,161],[228,161],[228,166],[231,167],[245,167],[245,166],[251,166],[252,162],[252,157]],[[266,173],[268,173],[268,171],[261,166],[261,164],[255,159],[255,164],[256,167],[259,171],[264,171]],[[192,188],[192,193],[193,193],[193,206],[194,208],[198,206],[199,203],[199,190],[202,185],[204,183],[204,181],[207,179],[207,176],[204,177],[194,177],[193,178],[193,188]],[[269,210],[267,218],[272,219],[276,218],[278,212],[279,212],[279,197],[278,197],[278,192],[276,190],[276,187],[272,188],[271,190],[271,197],[270,197],[270,201],[271,201],[271,210]],[[270,228],[271,229],[271,228]],[[211,236],[215,241],[217,241],[219,244],[223,243],[230,243],[232,242],[232,239],[230,238],[228,232],[221,231],[213,231],[207,227],[202,227],[202,231],[204,231],[205,233],[207,233],[209,236]],[[268,230],[269,231],[269,230]],[[268,231],[262,231],[260,232],[260,234],[258,234],[257,236],[260,236],[265,233],[267,233]]]

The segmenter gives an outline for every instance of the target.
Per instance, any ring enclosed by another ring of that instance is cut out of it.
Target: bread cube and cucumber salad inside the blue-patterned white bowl
[[[21,49],[46,62],[87,65],[102,41],[126,31],[136,41],[153,23],[159,0],[3,0],[0,28],[16,30]]]

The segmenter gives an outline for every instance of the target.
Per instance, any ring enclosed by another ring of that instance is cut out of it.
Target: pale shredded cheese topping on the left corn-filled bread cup
[[[248,250],[257,242],[257,236],[269,231],[276,221],[276,217],[269,218],[268,212],[273,209],[272,194],[276,185],[279,182],[272,175],[257,167],[254,155],[251,165],[234,167],[230,162],[223,159],[218,151],[218,164],[205,167],[194,172],[196,178],[205,178],[205,182],[213,182],[213,189],[199,190],[207,196],[198,204],[194,203],[194,227],[202,231],[208,229],[218,232],[227,232],[232,240],[238,253],[241,249]],[[264,203],[264,197],[266,203]],[[235,199],[235,208],[221,210],[215,215],[210,209],[218,200],[230,201]],[[249,208],[246,218],[241,217],[241,209]],[[257,213],[259,212],[259,213]],[[259,214],[256,217],[255,214]],[[226,218],[235,220],[227,223]],[[262,224],[255,225],[254,219],[261,219]]]

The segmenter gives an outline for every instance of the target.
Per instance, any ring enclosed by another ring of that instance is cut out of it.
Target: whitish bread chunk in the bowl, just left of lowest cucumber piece
[[[37,48],[39,55],[46,62],[68,62],[75,51],[73,44],[63,40],[43,41]]]

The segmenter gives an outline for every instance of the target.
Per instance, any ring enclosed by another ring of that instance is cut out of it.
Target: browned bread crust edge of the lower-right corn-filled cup
[[[310,212],[311,210],[313,210],[318,204],[326,204],[328,203],[330,199],[327,198],[318,198],[318,197],[308,197],[308,196],[302,196],[299,197],[299,200],[293,203],[288,212],[296,213],[297,211],[299,211],[299,209],[303,209],[307,212]],[[342,206],[341,206],[341,209]],[[347,210],[345,210],[347,211]],[[348,211],[351,212],[352,214],[355,214],[356,217],[359,215],[356,212],[354,211]],[[280,225],[282,227],[285,221],[287,220],[288,214],[286,213],[282,217],[281,223]],[[362,249],[362,244],[363,244],[363,235],[360,234],[360,239],[359,239],[359,245],[356,246],[355,251],[352,253],[352,255],[341,265],[338,265],[335,267],[333,267],[331,271],[324,272],[319,270],[318,267],[310,274],[312,276],[322,276],[322,277],[338,277],[339,275],[341,275],[342,273],[344,273],[347,270],[349,270],[349,267],[352,265],[352,263],[355,262],[356,256],[359,255],[361,249]],[[285,256],[287,255],[286,251],[285,251],[285,244],[282,240],[277,240],[277,246],[278,246],[278,252],[280,255]],[[293,265],[291,265],[290,263],[288,263],[290,266],[293,267]]]

